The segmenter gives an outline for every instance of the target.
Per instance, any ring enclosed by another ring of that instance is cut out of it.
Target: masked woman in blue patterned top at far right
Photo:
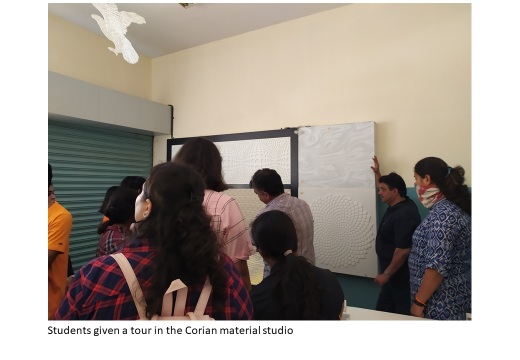
[[[415,230],[408,258],[411,313],[464,320],[471,307],[471,194],[464,169],[428,157],[414,171],[417,195],[430,212]]]

